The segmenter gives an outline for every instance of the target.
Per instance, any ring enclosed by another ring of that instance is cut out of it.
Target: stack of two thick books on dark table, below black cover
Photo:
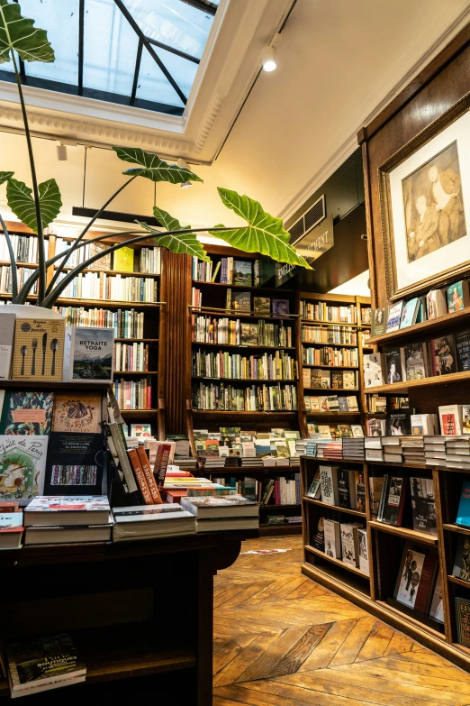
[[[25,546],[109,542],[113,515],[105,495],[42,495],[24,509],[24,527]]]

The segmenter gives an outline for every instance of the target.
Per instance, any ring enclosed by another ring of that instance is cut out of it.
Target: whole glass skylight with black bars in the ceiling
[[[47,30],[52,64],[20,62],[25,86],[183,115],[219,0],[20,0]],[[0,80],[13,81],[13,63]]]

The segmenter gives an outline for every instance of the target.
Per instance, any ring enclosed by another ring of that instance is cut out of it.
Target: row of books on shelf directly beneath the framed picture
[[[398,301],[372,313],[372,335],[384,335],[446,316],[470,306],[468,280],[459,280],[443,289],[431,289],[427,295]]]

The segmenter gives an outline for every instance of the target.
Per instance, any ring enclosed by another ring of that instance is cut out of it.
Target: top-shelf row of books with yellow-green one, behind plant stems
[[[94,257],[98,252],[104,252],[111,243],[86,243],[82,248],[77,248],[67,261],[67,267],[77,267],[77,265]],[[63,238],[56,238],[55,254],[65,252],[71,243]],[[113,267],[112,267],[113,264]],[[108,252],[102,258],[95,261],[92,270],[115,270],[118,272],[140,272],[143,274],[159,275],[161,271],[161,248],[143,247],[133,249],[123,246],[114,252]]]

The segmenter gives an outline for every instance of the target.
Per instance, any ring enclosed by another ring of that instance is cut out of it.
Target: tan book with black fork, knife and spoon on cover
[[[15,326],[12,380],[61,381],[65,320],[22,318]]]

